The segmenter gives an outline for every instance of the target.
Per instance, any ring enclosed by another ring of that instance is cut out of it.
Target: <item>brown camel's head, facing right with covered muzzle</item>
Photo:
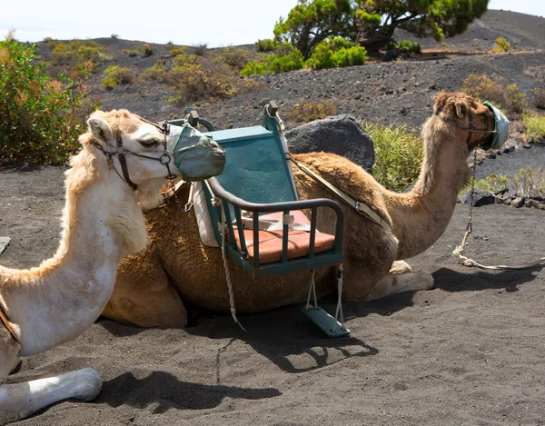
[[[501,128],[504,130],[501,134],[497,132],[497,123],[502,119],[501,124],[509,125],[507,118],[491,104],[481,104],[468,94],[441,92],[435,97],[433,110],[428,124],[458,134],[468,152],[478,145],[485,149],[499,148],[507,139],[509,128]]]

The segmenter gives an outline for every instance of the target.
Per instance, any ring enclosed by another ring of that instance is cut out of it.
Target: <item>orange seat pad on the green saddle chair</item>
[[[290,212],[295,223],[310,225],[309,219],[301,210]],[[263,220],[278,220],[282,222],[282,212],[271,213],[260,216]],[[237,245],[241,246],[238,232],[235,232]],[[253,230],[244,230],[244,240],[248,251],[248,260],[253,261]],[[314,253],[325,252],[333,247],[335,236],[329,233],[316,231],[314,240]],[[311,233],[306,231],[288,231],[288,259],[306,256],[309,253]],[[282,260],[282,231],[260,231],[259,232],[259,263],[280,262]]]

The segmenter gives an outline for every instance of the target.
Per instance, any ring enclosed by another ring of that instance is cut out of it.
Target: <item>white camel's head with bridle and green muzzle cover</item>
[[[96,111],[87,124],[80,142],[102,152],[134,189],[157,178],[199,181],[223,172],[223,148],[189,124],[155,124],[127,110]]]

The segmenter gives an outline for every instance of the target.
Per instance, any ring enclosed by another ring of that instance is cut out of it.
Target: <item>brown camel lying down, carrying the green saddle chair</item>
[[[469,132],[470,126],[485,132]],[[494,115],[487,106],[466,94],[439,94],[434,114],[421,131],[425,157],[410,193],[383,188],[371,174],[338,155],[293,155],[352,198],[372,206],[391,225],[388,232],[343,204],[344,300],[371,301],[431,289],[431,274],[412,272],[402,260],[427,250],[444,232],[457,195],[470,176],[468,155],[489,141],[493,129]],[[293,177],[300,199],[331,198],[297,167]],[[188,191],[183,189],[180,196],[186,197]],[[194,214],[183,214],[172,203],[147,213],[146,220],[150,244],[144,253],[121,263],[104,316],[139,327],[184,327],[183,301],[229,312],[222,253],[203,246]],[[332,213],[319,213],[318,229],[333,233]],[[229,268],[237,312],[259,312],[306,300],[308,271],[253,280],[231,261]],[[336,291],[332,272],[334,268],[316,271],[319,296]]]

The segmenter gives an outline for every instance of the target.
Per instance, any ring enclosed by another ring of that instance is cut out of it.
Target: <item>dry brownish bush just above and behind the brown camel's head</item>
[[[503,82],[503,80],[500,80]],[[486,75],[470,74],[462,85],[461,91],[476,99],[490,101],[496,107],[505,110],[511,118],[518,118],[526,106],[525,94],[519,93],[517,84],[496,83]]]

